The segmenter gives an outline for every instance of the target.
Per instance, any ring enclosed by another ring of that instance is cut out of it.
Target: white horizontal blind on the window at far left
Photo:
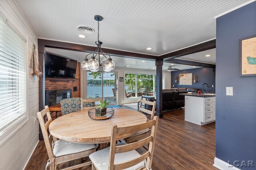
[[[26,116],[24,39],[0,17],[0,134]]]

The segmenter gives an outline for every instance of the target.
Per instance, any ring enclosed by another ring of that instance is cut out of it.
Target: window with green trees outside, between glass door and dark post
[[[154,96],[154,84],[152,74],[125,74],[126,97]]]

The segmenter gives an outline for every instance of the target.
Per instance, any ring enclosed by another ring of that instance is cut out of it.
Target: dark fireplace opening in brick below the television
[[[45,91],[45,105],[54,106],[60,104],[60,101],[63,99],[72,98],[71,95],[72,89],[64,90],[46,90]]]

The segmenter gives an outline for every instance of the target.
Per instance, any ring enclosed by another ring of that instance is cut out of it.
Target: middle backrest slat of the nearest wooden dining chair
[[[138,142],[130,143],[128,145],[123,145],[123,146],[117,146],[116,147],[116,153],[122,153],[122,152],[129,152],[131,150],[138,149],[140,147],[143,147],[144,145],[147,145],[152,141],[152,136],[149,136],[145,139],[142,139]]]

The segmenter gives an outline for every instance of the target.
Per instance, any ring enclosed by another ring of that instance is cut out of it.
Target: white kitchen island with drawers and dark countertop
[[[185,121],[205,125],[215,121],[215,94],[180,94],[185,96]]]

